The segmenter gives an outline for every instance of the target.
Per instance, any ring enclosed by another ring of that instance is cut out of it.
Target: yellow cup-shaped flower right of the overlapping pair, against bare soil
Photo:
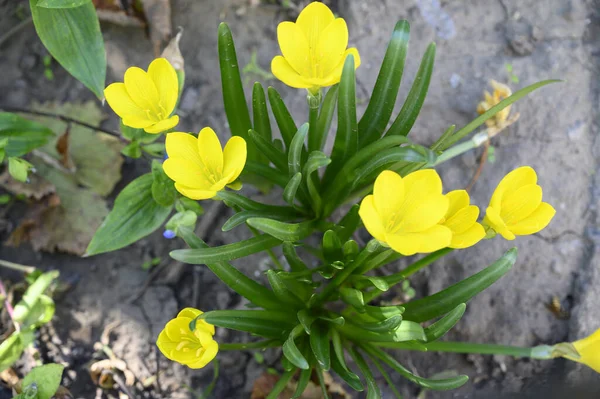
[[[504,176],[490,200],[483,221],[507,240],[537,233],[550,223],[556,211],[542,202],[542,188],[530,166],[522,166]]]

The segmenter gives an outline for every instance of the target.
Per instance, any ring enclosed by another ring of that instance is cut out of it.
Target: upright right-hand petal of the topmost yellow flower
[[[346,21],[338,18],[327,26],[319,36],[315,58],[318,62],[317,76],[328,76],[344,60],[348,47],[348,27]],[[356,60],[354,60],[356,62]]]

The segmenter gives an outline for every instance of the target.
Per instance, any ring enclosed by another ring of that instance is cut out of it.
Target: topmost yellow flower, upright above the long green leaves
[[[298,89],[317,90],[339,83],[344,61],[354,56],[360,65],[356,48],[348,47],[348,27],[343,18],[335,18],[323,3],[310,3],[296,23],[282,22],[277,27],[277,40],[283,56],[271,61],[277,79]]]

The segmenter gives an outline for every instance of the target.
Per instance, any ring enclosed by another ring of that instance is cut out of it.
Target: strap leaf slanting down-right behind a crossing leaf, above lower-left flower
[[[189,228],[180,228],[177,235],[192,249],[207,248],[208,245],[194,234]],[[281,303],[273,292],[265,286],[247,277],[228,262],[217,262],[206,265],[221,281],[239,295],[248,299],[256,306],[265,309],[276,309]]]

